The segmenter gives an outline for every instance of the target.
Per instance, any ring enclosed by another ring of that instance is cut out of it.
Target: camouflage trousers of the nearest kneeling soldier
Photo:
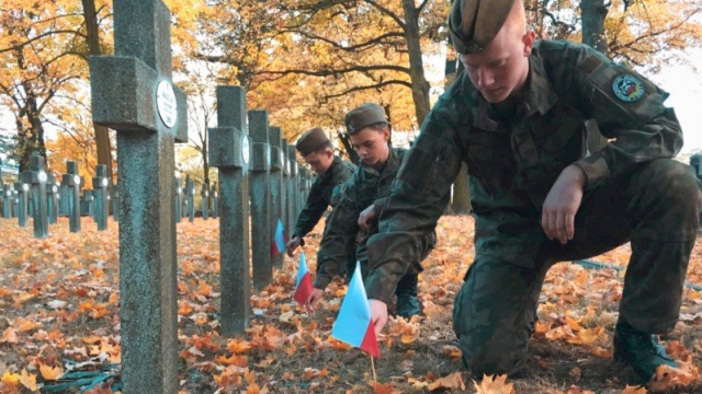
[[[586,193],[566,245],[546,241],[533,269],[480,255],[456,296],[453,325],[474,373],[514,374],[524,364],[548,268],[631,242],[620,320],[649,333],[670,332],[699,227],[700,183],[691,167],[660,159]],[[540,225],[536,223],[535,225]]]

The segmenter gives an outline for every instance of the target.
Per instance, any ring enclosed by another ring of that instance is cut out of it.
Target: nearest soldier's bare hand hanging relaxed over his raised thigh
[[[575,215],[582,202],[582,189],[587,181],[577,165],[563,170],[544,200],[541,227],[550,240],[566,244],[575,236]]]

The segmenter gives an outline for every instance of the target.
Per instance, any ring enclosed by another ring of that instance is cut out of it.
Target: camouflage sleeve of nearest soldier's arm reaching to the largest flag
[[[380,232],[369,239],[369,299],[389,303],[405,273],[421,270],[424,234],[434,230],[461,169],[456,129],[434,111],[393,183],[381,212]]]

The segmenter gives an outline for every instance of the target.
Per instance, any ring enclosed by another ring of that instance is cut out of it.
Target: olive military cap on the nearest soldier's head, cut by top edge
[[[477,54],[502,28],[514,1],[521,0],[453,0],[449,32],[456,51]]]

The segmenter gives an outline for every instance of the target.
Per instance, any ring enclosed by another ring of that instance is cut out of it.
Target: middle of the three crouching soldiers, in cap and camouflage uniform
[[[355,256],[361,262],[361,270],[365,278],[365,242],[371,234],[377,232],[376,219],[380,208],[389,194],[390,184],[407,152],[406,149],[389,147],[389,126],[385,112],[377,104],[366,103],[354,108],[347,114],[344,121],[351,143],[359,152],[362,163],[347,184],[339,206],[329,216],[317,254],[315,291],[309,300],[312,308],[338,273],[339,264],[346,260],[349,250],[354,246],[354,240],[359,243]],[[433,243],[431,231],[422,236],[422,251],[417,255],[417,264],[429,254]],[[397,283],[397,314],[403,317],[411,317],[421,312],[417,299],[417,273],[410,273],[403,276]]]

